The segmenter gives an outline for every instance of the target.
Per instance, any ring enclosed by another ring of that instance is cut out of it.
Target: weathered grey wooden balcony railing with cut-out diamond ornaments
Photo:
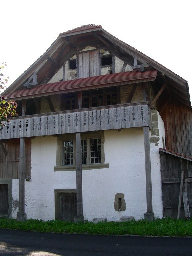
[[[151,128],[148,102],[12,118],[0,127],[0,140],[144,126]]]

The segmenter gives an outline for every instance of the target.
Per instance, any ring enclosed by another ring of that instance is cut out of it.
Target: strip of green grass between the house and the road
[[[157,219],[129,222],[64,222],[59,220],[27,220],[17,222],[15,219],[0,219],[0,228],[18,229],[37,232],[98,234],[98,235],[140,235],[140,236],[192,236],[192,220]]]

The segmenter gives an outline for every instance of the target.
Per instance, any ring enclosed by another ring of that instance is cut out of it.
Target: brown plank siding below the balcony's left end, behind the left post
[[[19,139],[8,140],[3,143],[7,156],[0,146],[0,179],[18,179],[19,170]],[[26,177],[31,177],[31,139],[25,139],[26,145]]]

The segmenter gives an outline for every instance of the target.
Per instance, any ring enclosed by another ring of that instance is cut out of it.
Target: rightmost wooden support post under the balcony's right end
[[[149,127],[143,127],[144,148],[145,148],[145,177],[146,177],[146,198],[147,212],[144,214],[145,220],[154,220],[153,204],[152,204],[152,184],[151,184],[151,156],[149,142]]]

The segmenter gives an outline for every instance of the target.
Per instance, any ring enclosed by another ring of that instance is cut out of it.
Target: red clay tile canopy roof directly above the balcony
[[[153,81],[157,76],[157,70],[140,70],[127,71],[122,73],[114,73],[108,75],[100,75],[86,77],[80,79],[67,80],[62,82],[41,84],[32,89],[24,88],[2,96],[2,99],[24,99],[41,97],[45,95],[61,94],[69,91],[88,90],[104,86],[114,86],[131,84],[135,82]]]

